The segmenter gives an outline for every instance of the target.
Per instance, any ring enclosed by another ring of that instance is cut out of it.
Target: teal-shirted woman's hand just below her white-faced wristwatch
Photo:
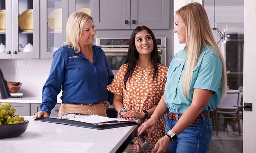
[[[156,153],[165,153],[171,143],[170,138],[166,135],[156,142],[155,147],[152,149],[152,152]]]

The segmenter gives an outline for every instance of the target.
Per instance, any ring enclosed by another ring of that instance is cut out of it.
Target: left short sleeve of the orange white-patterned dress
[[[124,76],[126,72],[126,66],[122,65],[117,71],[112,83],[106,87],[109,92],[116,94],[118,96],[123,96],[124,88]]]

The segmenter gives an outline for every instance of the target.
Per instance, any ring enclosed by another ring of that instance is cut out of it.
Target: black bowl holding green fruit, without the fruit
[[[0,125],[0,138],[16,137],[23,134],[28,127],[28,120],[24,123]]]

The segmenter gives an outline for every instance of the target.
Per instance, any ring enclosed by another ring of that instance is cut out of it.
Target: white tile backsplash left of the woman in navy
[[[22,83],[19,92],[24,97],[42,98],[42,89],[48,78],[52,60],[0,60],[0,69],[6,81]],[[60,94],[58,96],[58,99]]]

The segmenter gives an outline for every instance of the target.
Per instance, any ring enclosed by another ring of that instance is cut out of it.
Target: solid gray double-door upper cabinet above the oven
[[[170,28],[170,0],[93,0],[91,11],[98,30]]]

